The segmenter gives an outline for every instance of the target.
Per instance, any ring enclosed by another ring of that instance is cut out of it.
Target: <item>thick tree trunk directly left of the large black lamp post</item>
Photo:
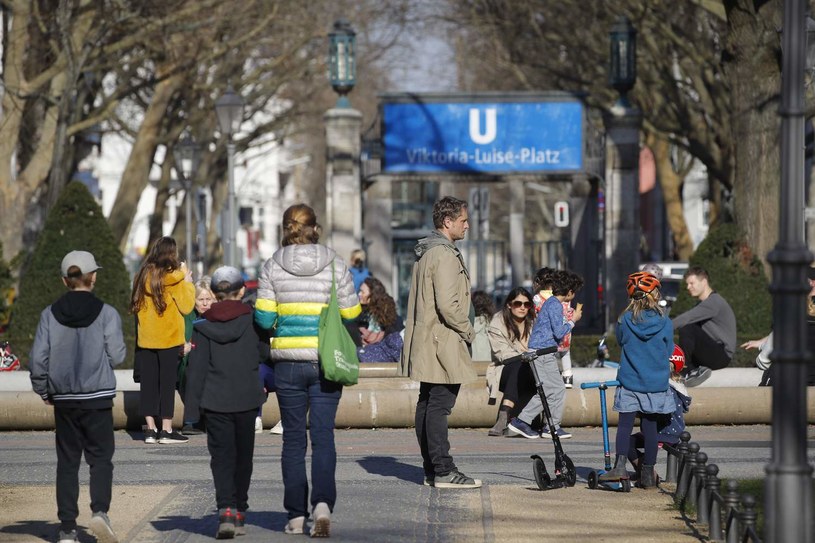
[[[753,253],[766,266],[778,239],[780,186],[778,117],[781,74],[778,32],[781,0],[725,2],[725,74],[732,91],[736,173],[734,212]],[[803,200],[803,192],[801,194]]]

